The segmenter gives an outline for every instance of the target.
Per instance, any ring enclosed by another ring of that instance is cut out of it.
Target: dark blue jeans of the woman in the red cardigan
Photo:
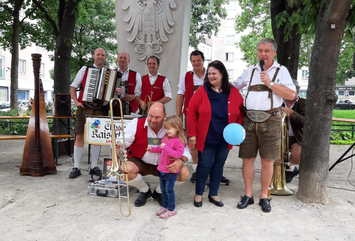
[[[223,174],[223,166],[229,153],[226,142],[204,144],[203,152],[198,151],[196,168],[196,195],[202,195],[209,175],[209,195],[217,196]]]

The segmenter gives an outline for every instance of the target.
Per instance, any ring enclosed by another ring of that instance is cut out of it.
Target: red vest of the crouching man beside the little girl
[[[154,94],[153,94],[154,95]],[[148,147],[148,130],[144,128],[147,116],[138,118],[137,130],[133,143],[127,148],[127,158],[136,157],[142,159],[147,152]]]

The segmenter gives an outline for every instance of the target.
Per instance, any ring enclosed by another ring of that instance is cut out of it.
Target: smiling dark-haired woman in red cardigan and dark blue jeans
[[[223,63],[208,64],[204,84],[192,96],[187,110],[187,136],[198,151],[196,191],[193,204],[202,206],[202,194],[209,175],[208,200],[222,207],[218,197],[223,166],[232,148],[223,138],[223,130],[230,123],[242,124],[243,97],[229,83]]]

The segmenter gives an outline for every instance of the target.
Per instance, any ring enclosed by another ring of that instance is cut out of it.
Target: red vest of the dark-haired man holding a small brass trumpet
[[[159,75],[157,80],[155,80],[154,84],[151,85],[151,82],[149,81],[149,76],[144,75],[142,77],[142,94],[141,94],[141,99],[144,100],[146,96],[148,95],[149,97],[151,96],[151,91],[153,91],[153,96],[152,96],[152,102],[158,101],[164,97],[164,90],[163,90],[163,82],[165,80],[165,77],[162,75]],[[148,98],[147,102],[148,103]]]

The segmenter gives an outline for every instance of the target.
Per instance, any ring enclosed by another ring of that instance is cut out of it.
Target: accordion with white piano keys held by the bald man
[[[122,73],[115,69],[88,67],[82,100],[107,106],[119,97],[116,88],[121,86]]]

